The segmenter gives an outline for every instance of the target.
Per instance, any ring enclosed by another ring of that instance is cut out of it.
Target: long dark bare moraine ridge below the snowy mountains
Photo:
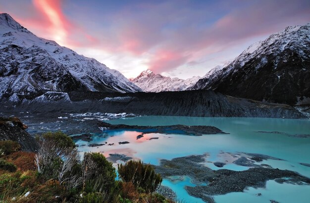
[[[47,92],[33,100],[15,104],[14,107],[3,105],[0,111],[125,112],[162,116],[307,118],[289,105],[235,98],[210,90],[124,94],[92,91]]]

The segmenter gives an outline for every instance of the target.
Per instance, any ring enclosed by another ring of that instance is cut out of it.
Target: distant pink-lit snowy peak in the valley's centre
[[[182,91],[195,84],[200,77],[193,77],[187,80],[179,78],[164,77],[155,74],[151,70],[143,71],[137,78],[130,79],[145,92],[161,91]]]

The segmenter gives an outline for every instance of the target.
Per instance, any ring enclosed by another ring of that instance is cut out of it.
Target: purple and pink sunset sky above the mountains
[[[309,23],[310,0],[0,0],[3,12],[127,78],[150,69],[187,79]]]

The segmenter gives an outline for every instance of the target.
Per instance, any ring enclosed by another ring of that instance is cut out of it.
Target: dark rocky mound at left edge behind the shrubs
[[[36,152],[39,145],[34,137],[25,131],[27,125],[17,118],[0,117],[0,140],[12,140],[20,144],[21,150]]]

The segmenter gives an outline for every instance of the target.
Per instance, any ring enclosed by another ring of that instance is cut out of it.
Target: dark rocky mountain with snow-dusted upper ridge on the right
[[[287,27],[252,44],[189,89],[291,105],[310,103],[310,24]]]

